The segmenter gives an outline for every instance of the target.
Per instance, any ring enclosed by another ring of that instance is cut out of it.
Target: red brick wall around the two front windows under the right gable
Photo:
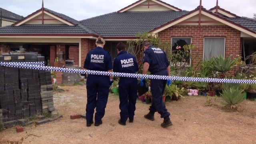
[[[203,46],[205,37],[225,37],[225,57],[232,54],[232,58],[242,54],[240,32],[229,26],[172,26],[158,33],[161,40],[170,42],[172,37],[191,37],[195,45],[192,50],[192,58],[198,54],[193,64],[203,59]]]

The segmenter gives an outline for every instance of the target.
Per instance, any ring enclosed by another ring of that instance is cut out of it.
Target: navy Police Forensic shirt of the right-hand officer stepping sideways
[[[148,70],[151,73],[157,72],[162,68],[167,68],[170,65],[166,57],[166,53],[160,48],[154,46],[149,46],[148,49],[144,51],[144,62],[149,63]]]

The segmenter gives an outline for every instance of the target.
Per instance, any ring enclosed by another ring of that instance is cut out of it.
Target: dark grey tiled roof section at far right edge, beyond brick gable
[[[252,30],[256,32],[256,20],[252,18],[226,18],[227,20],[230,20],[240,26],[243,26],[245,28],[248,28],[249,30]]]

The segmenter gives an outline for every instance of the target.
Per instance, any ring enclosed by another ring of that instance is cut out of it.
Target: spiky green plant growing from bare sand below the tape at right
[[[224,83],[222,86],[222,93],[220,94],[225,102],[224,105],[230,105],[230,109],[237,108],[243,99],[244,90],[241,84]]]

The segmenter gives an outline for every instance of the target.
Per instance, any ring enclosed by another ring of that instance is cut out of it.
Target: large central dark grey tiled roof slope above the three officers
[[[188,11],[112,12],[81,20],[81,24],[104,37],[135,36],[138,32],[149,32]]]

